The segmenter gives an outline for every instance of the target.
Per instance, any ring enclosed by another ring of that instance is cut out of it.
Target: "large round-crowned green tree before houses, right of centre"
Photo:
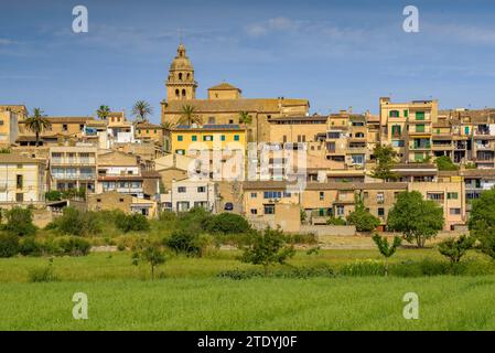
[[[403,238],[418,247],[424,247],[427,239],[437,236],[443,228],[443,208],[434,201],[423,200],[418,191],[399,193],[388,213],[388,227],[401,232]]]

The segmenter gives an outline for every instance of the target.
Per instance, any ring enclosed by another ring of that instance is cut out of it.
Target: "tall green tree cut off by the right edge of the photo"
[[[495,189],[484,191],[473,200],[469,228],[480,242],[480,250],[495,259]]]

